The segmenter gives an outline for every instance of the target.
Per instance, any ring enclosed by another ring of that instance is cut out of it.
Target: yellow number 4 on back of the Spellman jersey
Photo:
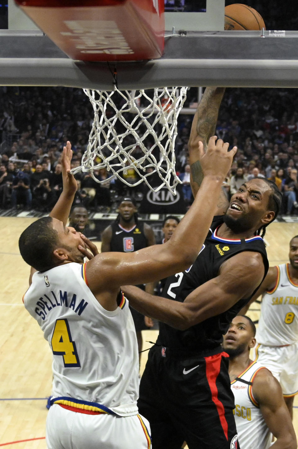
[[[64,366],[81,366],[76,344],[71,339],[68,321],[56,320],[51,339],[53,354],[63,356]]]

